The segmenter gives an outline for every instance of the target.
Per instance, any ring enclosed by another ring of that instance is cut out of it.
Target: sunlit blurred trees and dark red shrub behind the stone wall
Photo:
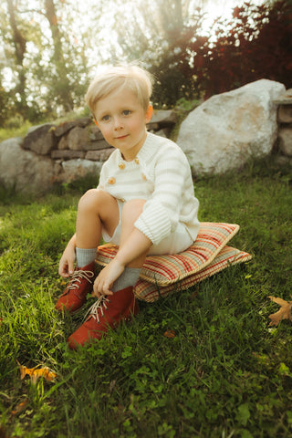
[[[157,106],[206,99],[258,78],[292,87],[291,0],[235,6],[232,19],[217,17],[208,31],[203,10],[212,0],[80,3],[1,3],[0,126],[83,107],[103,63],[140,60],[155,75]]]

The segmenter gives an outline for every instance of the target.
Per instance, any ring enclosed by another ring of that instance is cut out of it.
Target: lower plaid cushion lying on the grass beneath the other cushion
[[[251,258],[252,256],[245,253],[245,251],[240,251],[231,246],[224,246],[208,266],[205,266],[202,270],[189,276],[184,276],[182,280],[178,279],[176,284],[169,284],[161,287],[140,278],[137,285],[134,287],[134,293],[137,298],[143,301],[153,302],[159,297],[167,297],[175,291],[192,287],[195,283],[199,283],[208,276],[214,276],[214,274],[222,271],[228,266],[247,262]]]

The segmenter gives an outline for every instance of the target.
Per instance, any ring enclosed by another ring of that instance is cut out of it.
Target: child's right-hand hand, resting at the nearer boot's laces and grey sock
[[[116,259],[111,260],[109,265],[104,267],[97,276],[94,285],[92,295],[95,297],[101,297],[102,295],[113,295],[110,290],[113,283],[125,269],[125,266],[121,265]]]

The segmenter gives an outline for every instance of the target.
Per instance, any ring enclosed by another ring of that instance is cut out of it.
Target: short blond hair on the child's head
[[[104,67],[89,85],[85,100],[94,113],[99,99],[106,98],[113,91],[127,88],[133,91],[146,111],[150,104],[153,78],[151,74],[136,65]]]

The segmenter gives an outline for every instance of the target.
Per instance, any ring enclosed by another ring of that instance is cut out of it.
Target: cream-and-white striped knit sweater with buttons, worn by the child
[[[186,225],[195,240],[199,231],[199,202],[193,193],[189,162],[173,141],[147,133],[135,160],[125,162],[119,150],[113,151],[102,166],[99,189],[122,202],[147,202],[135,227],[153,245],[170,235],[179,222]]]

